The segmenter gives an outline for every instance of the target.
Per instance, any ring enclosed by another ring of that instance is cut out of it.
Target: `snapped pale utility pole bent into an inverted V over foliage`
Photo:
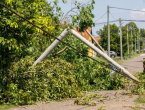
[[[83,36],[78,34],[75,30],[73,29],[66,29],[62,32],[62,34],[58,37],[60,40],[63,40],[63,38],[68,34],[71,33],[74,35],[76,38],[84,42],[88,47],[93,49],[96,53],[98,53],[100,56],[102,56],[104,59],[106,59],[110,64],[112,64],[114,67],[116,67],[121,74],[124,76],[127,76],[128,78],[132,79],[136,83],[140,83],[140,81],[134,77],[131,73],[129,73],[126,69],[124,69],[122,66],[120,66],[118,63],[116,63],[113,59],[111,59],[107,54],[103,53],[99,48],[97,48],[95,45],[90,43],[88,40],[86,40]],[[55,40],[46,50],[45,52],[34,62],[33,65],[36,65],[40,61],[44,60],[48,54],[60,43],[60,41]]]

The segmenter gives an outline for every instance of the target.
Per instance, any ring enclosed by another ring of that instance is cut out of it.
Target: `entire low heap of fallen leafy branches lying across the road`
[[[111,78],[108,69],[93,61],[81,60],[72,65],[59,58],[51,58],[36,67],[32,67],[32,56],[13,62],[0,86],[0,103],[32,104],[35,101],[78,97],[84,90],[123,87],[120,76]],[[101,84],[97,86],[98,83]]]

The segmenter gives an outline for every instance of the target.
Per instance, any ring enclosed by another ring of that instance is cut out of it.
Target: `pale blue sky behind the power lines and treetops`
[[[54,0],[47,0],[52,2]],[[59,0],[59,6],[61,7],[63,13],[66,13],[71,9],[71,1],[67,0],[67,4],[63,4],[62,0]],[[88,3],[91,0],[77,0],[82,3]],[[142,10],[145,11],[145,0],[95,0],[93,14],[95,15],[94,21],[101,18],[107,12],[107,6],[132,9],[132,10]],[[121,10],[116,8],[110,8],[110,21],[126,19],[126,20],[145,20],[145,12],[130,11],[130,10]],[[96,23],[107,22],[107,14],[105,14],[101,19]],[[125,25],[128,22],[124,22],[122,25]],[[139,28],[145,28],[145,22],[135,22]],[[119,26],[119,22],[115,22]],[[96,25],[92,27],[93,35],[98,36],[96,31],[102,29],[103,25]]]

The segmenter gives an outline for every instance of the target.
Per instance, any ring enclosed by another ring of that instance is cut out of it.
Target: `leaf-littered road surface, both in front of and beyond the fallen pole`
[[[127,70],[132,74],[143,71],[143,58],[145,54],[138,56],[122,64],[127,67]],[[135,103],[138,95],[124,94],[128,93],[127,90],[109,90],[109,91],[96,91],[91,94],[100,94],[107,96],[107,98],[93,98],[92,102],[96,106],[88,105],[75,105],[76,99],[65,100],[61,102],[52,101],[49,103],[36,103],[36,105],[20,106],[11,110],[133,110],[135,107],[145,110],[144,104]],[[88,93],[89,94],[89,93]]]

